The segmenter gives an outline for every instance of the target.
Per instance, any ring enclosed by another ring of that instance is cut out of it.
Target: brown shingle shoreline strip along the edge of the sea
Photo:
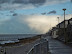
[[[19,42],[0,44],[0,46],[4,47],[4,46],[24,45],[26,43],[31,43],[39,38],[41,38],[41,35],[36,35],[34,37],[28,37],[28,38],[21,38],[21,39],[18,39]]]

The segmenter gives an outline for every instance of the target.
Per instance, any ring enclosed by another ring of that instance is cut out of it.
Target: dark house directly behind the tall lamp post
[[[61,41],[65,41],[65,38],[67,37],[66,29],[67,29],[68,23],[69,23],[68,20],[65,20],[65,21],[62,21],[61,23],[59,23],[58,25],[56,25],[56,27],[58,28],[57,39],[59,39]]]

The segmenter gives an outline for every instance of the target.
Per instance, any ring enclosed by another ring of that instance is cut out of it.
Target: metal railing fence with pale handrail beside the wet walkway
[[[33,48],[27,54],[49,54],[48,40],[44,40],[33,46]]]

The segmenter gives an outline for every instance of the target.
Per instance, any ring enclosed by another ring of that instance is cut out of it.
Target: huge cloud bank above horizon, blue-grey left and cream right
[[[17,15],[11,17],[0,17],[0,33],[3,34],[42,34],[49,31],[51,27],[64,20],[60,15]],[[66,15],[70,19],[72,14]]]

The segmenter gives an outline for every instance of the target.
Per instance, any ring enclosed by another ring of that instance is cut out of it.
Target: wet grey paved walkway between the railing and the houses
[[[49,49],[51,54],[72,54],[72,47],[63,44],[50,36],[47,39],[49,41]]]

